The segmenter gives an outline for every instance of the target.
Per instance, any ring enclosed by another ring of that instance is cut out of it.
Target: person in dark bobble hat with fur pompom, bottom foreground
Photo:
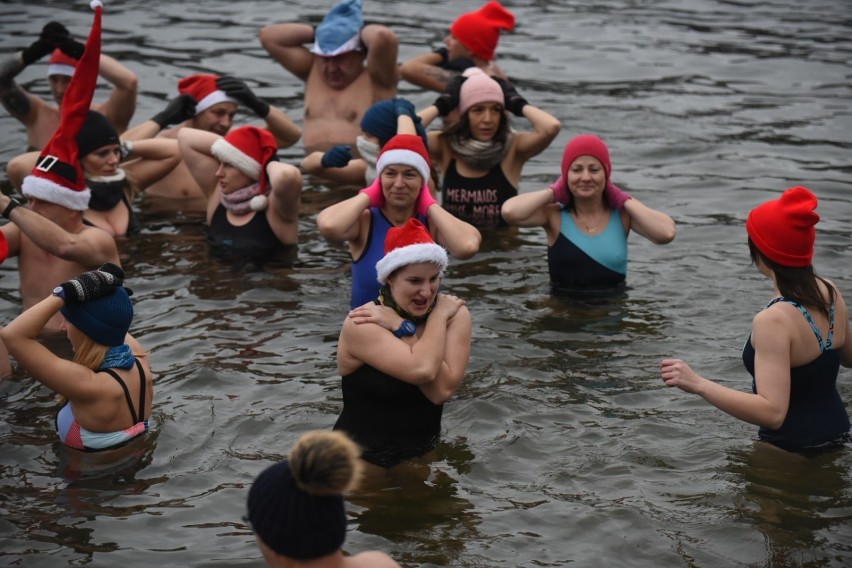
[[[361,474],[358,447],[341,432],[308,432],[287,459],[266,468],[249,489],[248,515],[267,566],[399,568],[378,551],[344,556],[343,495]]]

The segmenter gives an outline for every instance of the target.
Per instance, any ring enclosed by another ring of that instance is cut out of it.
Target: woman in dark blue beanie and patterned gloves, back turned
[[[119,448],[148,430],[153,378],[147,353],[128,333],[133,305],[114,264],[85,272],[0,330],[18,364],[67,402],[56,416],[60,440],[84,451]],[[38,341],[56,312],[74,360],[53,354]]]

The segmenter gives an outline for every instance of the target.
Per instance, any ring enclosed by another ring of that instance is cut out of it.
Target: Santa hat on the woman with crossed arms
[[[421,262],[438,265],[443,274],[449,260],[447,251],[435,244],[426,226],[411,218],[402,227],[391,227],[388,230],[385,237],[385,256],[376,263],[379,283],[385,285],[395,270]]]

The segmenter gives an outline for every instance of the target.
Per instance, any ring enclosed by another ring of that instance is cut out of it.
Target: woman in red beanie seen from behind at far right
[[[852,341],[843,297],[811,264],[816,207],[813,193],[794,187],[753,209],[746,221],[752,262],[774,288],[743,347],[752,392],[700,377],[680,359],[660,365],[666,386],[701,396],[759,426],[761,440],[792,451],[849,440],[849,415],[836,385],[840,365],[852,366]]]

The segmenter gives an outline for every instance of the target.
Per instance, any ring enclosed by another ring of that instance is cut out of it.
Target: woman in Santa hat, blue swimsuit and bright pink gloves
[[[379,154],[376,170],[379,177],[369,187],[317,215],[317,227],[325,238],[349,244],[352,308],[372,302],[378,294],[376,262],[382,258],[385,237],[392,227],[416,218],[436,243],[460,259],[476,254],[482,239],[475,227],[453,217],[435,201],[427,184],[429,156],[420,136],[397,134],[391,138]]]

